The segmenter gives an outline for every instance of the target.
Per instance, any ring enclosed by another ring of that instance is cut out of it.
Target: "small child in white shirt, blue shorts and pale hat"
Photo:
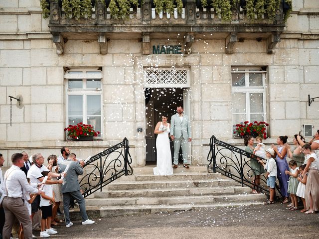
[[[274,158],[275,151],[272,148],[265,150],[266,157],[268,158],[267,163],[265,164],[261,159],[259,162],[264,166],[267,171],[265,177],[267,178],[267,186],[269,187],[270,197],[265,204],[274,204],[275,203],[275,187],[276,187],[276,178],[277,178],[277,164]]]

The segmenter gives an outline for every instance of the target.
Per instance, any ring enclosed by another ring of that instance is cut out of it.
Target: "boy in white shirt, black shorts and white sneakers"
[[[51,180],[51,176],[48,176],[48,180]],[[54,203],[53,185],[45,184],[41,190],[40,207],[42,212],[41,219],[41,238],[48,238],[50,234],[57,234],[57,232],[51,228],[52,217],[52,205]],[[45,231],[45,228],[47,230]]]

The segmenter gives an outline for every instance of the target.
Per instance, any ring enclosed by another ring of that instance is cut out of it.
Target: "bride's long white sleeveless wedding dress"
[[[167,129],[158,134],[158,137],[156,139],[156,150],[157,150],[157,164],[156,167],[153,168],[154,175],[172,175],[173,174],[173,168],[171,167],[171,153],[170,153],[170,145],[169,145],[169,138],[168,133],[169,130],[169,124],[167,126]],[[160,123],[161,130],[163,127],[163,123]]]

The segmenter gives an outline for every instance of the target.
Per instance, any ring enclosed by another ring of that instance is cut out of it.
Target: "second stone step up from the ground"
[[[237,194],[237,195],[200,195],[200,196],[177,196],[177,197],[130,197],[130,198],[95,198],[86,200],[88,206],[134,206],[134,205],[176,205],[176,204],[212,204],[247,201],[264,201],[264,194]]]

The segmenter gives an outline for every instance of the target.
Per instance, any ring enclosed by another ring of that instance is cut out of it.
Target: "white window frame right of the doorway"
[[[240,122],[233,122],[234,115],[246,115],[246,120],[251,122],[251,110],[250,110],[250,94],[251,93],[262,93],[263,94],[263,112],[255,113],[255,114],[262,114],[263,120],[267,121],[267,105],[266,105],[266,94],[267,94],[267,82],[266,82],[266,75],[267,71],[263,70],[261,67],[232,67],[231,74],[233,73],[245,73],[245,86],[232,86],[231,81],[231,102],[233,103],[233,93],[245,93],[245,103],[246,103],[246,112],[245,113],[234,113],[232,107],[232,135],[233,137],[238,136],[234,134],[235,126],[237,123]],[[249,86],[249,73],[261,73],[262,75],[262,86]],[[233,106],[233,104],[232,104]],[[267,132],[268,135],[268,132]]]

